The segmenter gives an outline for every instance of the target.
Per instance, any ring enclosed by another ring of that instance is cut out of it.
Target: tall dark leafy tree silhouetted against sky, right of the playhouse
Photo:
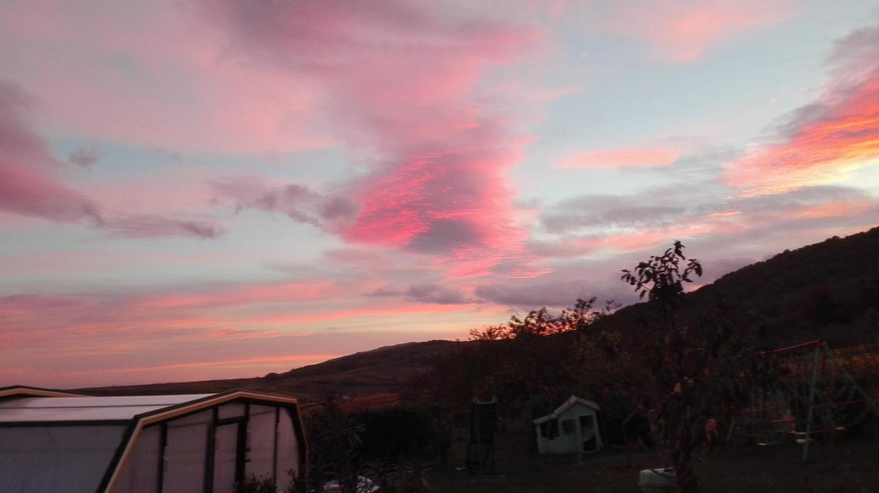
[[[702,266],[686,259],[680,241],[622,273],[622,281],[647,298],[643,331],[628,344],[600,342],[619,360],[642,368],[628,383],[634,384],[651,434],[674,467],[679,489],[696,493],[693,454],[705,438],[708,419],[746,404],[755,388],[768,388],[775,375],[773,361],[769,352],[733,330],[735,307],[718,302],[695,318],[682,317],[684,283],[701,276]]]

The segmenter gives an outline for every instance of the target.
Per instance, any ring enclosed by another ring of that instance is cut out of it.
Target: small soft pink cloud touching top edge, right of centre
[[[606,23],[595,27],[644,39],[660,61],[684,63],[734,35],[790,16],[787,2],[747,0],[620,2]]]

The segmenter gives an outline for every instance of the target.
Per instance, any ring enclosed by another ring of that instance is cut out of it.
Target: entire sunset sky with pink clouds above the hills
[[[0,386],[265,375],[879,223],[879,0],[0,4]]]

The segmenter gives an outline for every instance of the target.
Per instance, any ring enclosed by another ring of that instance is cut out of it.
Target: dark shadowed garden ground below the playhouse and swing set
[[[879,435],[864,433],[830,444],[817,440],[809,461],[792,441],[770,447],[737,445],[696,461],[701,488],[716,492],[877,492],[879,491]],[[426,478],[433,493],[530,493],[594,491],[637,493],[638,472],[662,467],[653,452],[608,449],[582,456],[541,456],[532,452],[524,430],[498,439],[498,474],[478,477],[460,470],[466,442],[454,444],[449,461],[431,468]]]

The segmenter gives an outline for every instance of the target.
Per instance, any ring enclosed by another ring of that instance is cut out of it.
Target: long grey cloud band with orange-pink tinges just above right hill
[[[699,245],[717,257],[741,256],[767,239],[764,247],[780,245],[783,235],[803,241],[832,236],[834,226],[849,232],[879,222],[879,198],[863,189],[818,185],[762,196],[694,196],[647,190],[632,196],[581,196],[544,212],[555,223],[531,239],[529,250],[544,258],[637,253],[662,247],[674,239]],[[718,194],[719,195],[719,194]],[[658,204],[668,203],[668,206]],[[601,209],[601,208],[604,209]],[[579,211],[578,208],[584,208]],[[605,219],[604,222],[597,220]],[[563,219],[563,220],[562,220]],[[772,239],[768,242],[768,239]]]

